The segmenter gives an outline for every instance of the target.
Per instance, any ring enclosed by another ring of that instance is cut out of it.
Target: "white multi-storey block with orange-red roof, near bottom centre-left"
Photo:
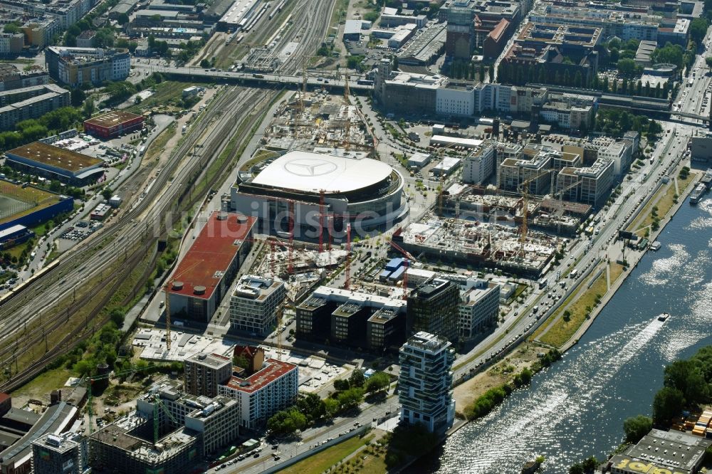
[[[278,411],[297,401],[299,371],[297,366],[277,359],[267,359],[256,372],[233,375],[219,386],[219,392],[237,402],[239,425],[258,429]]]

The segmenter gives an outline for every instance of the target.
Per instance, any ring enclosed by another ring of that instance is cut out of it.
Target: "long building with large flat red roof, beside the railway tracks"
[[[214,211],[169,278],[171,317],[209,322],[253,243],[256,218]]]

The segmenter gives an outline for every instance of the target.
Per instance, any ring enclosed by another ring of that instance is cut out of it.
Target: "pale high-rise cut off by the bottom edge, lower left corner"
[[[90,473],[87,438],[79,433],[45,434],[32,442],[34,474]]]

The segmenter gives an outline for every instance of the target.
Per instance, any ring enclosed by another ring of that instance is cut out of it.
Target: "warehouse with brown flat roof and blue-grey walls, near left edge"
[[[103,161],[51,144],[33,142],[5,152],[8,166],[29,174],[85,186],[103,176]]]

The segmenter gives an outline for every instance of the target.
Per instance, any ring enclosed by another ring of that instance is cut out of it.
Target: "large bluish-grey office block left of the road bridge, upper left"
[[[51,78],[70,87],[125,80],[131,70],[127,50],[103,48],[50,46],[45,49],[45,64]]]

